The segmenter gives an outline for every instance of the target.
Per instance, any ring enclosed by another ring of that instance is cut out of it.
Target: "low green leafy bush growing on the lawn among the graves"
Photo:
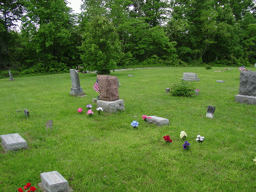
[[[173,87],[170,88],[170,94],[173,96],[191,97],[195,95],[195,90],[195,85],[192,82],[182,80],[181,83],[173,84]]]

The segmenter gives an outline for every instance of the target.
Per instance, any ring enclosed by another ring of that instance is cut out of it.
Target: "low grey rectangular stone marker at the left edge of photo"
[[[27,141],[18,133],[1,135],[1,145],[5,151],[19,150],[28,148]]]

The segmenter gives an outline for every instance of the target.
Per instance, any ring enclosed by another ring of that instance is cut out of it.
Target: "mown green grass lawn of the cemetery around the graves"
[[[256,190],[256,105],[234,101],[240,72],[238,67],[224,69],[112,72],[119,78],[125,108],[117,114],[97,113],[93,73],[79,73],[84,97],[69,95],[69,73],[0,79],[0,135],[19,133],[29,146],[8,153],[0,147],[0,190],[17,191],[29,182],[41,191],[40,173],[53,170],[81,192]],[[199,95],[165,93],[172,83],[181,82],[183,72],[200,78],[193,82]],[[93,106],[92,117],[87,104]],[[212,119],[205,117],[208,105],[216,106]],[[78,108],[83,109],[81,114]],[[149,124],[142,115],[167,118],[169,125]],[[53,129],[47,131],[50,119]],[[131,126],[134,120],[138,129]],[[181,131],[187,133],[186,139],[180,139]],[[172,143],[164,142],[166,135]],[[197,142],[197,135],[205,140]],[[183,149],[184,141],[191,144],[189,150]]]

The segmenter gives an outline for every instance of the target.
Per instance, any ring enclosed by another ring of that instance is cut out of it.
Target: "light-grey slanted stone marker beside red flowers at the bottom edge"
[[[57,170],[40,174],[41,182],[38,187],[44,192],[72,192],[68,181]]]

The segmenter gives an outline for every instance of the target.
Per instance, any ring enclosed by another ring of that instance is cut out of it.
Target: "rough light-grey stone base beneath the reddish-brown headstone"
[[[117,113],[118,111],[124,111],[124,103],[122,99],[115,101],[97,100],[98,108],[102,108],[106,113]]]

